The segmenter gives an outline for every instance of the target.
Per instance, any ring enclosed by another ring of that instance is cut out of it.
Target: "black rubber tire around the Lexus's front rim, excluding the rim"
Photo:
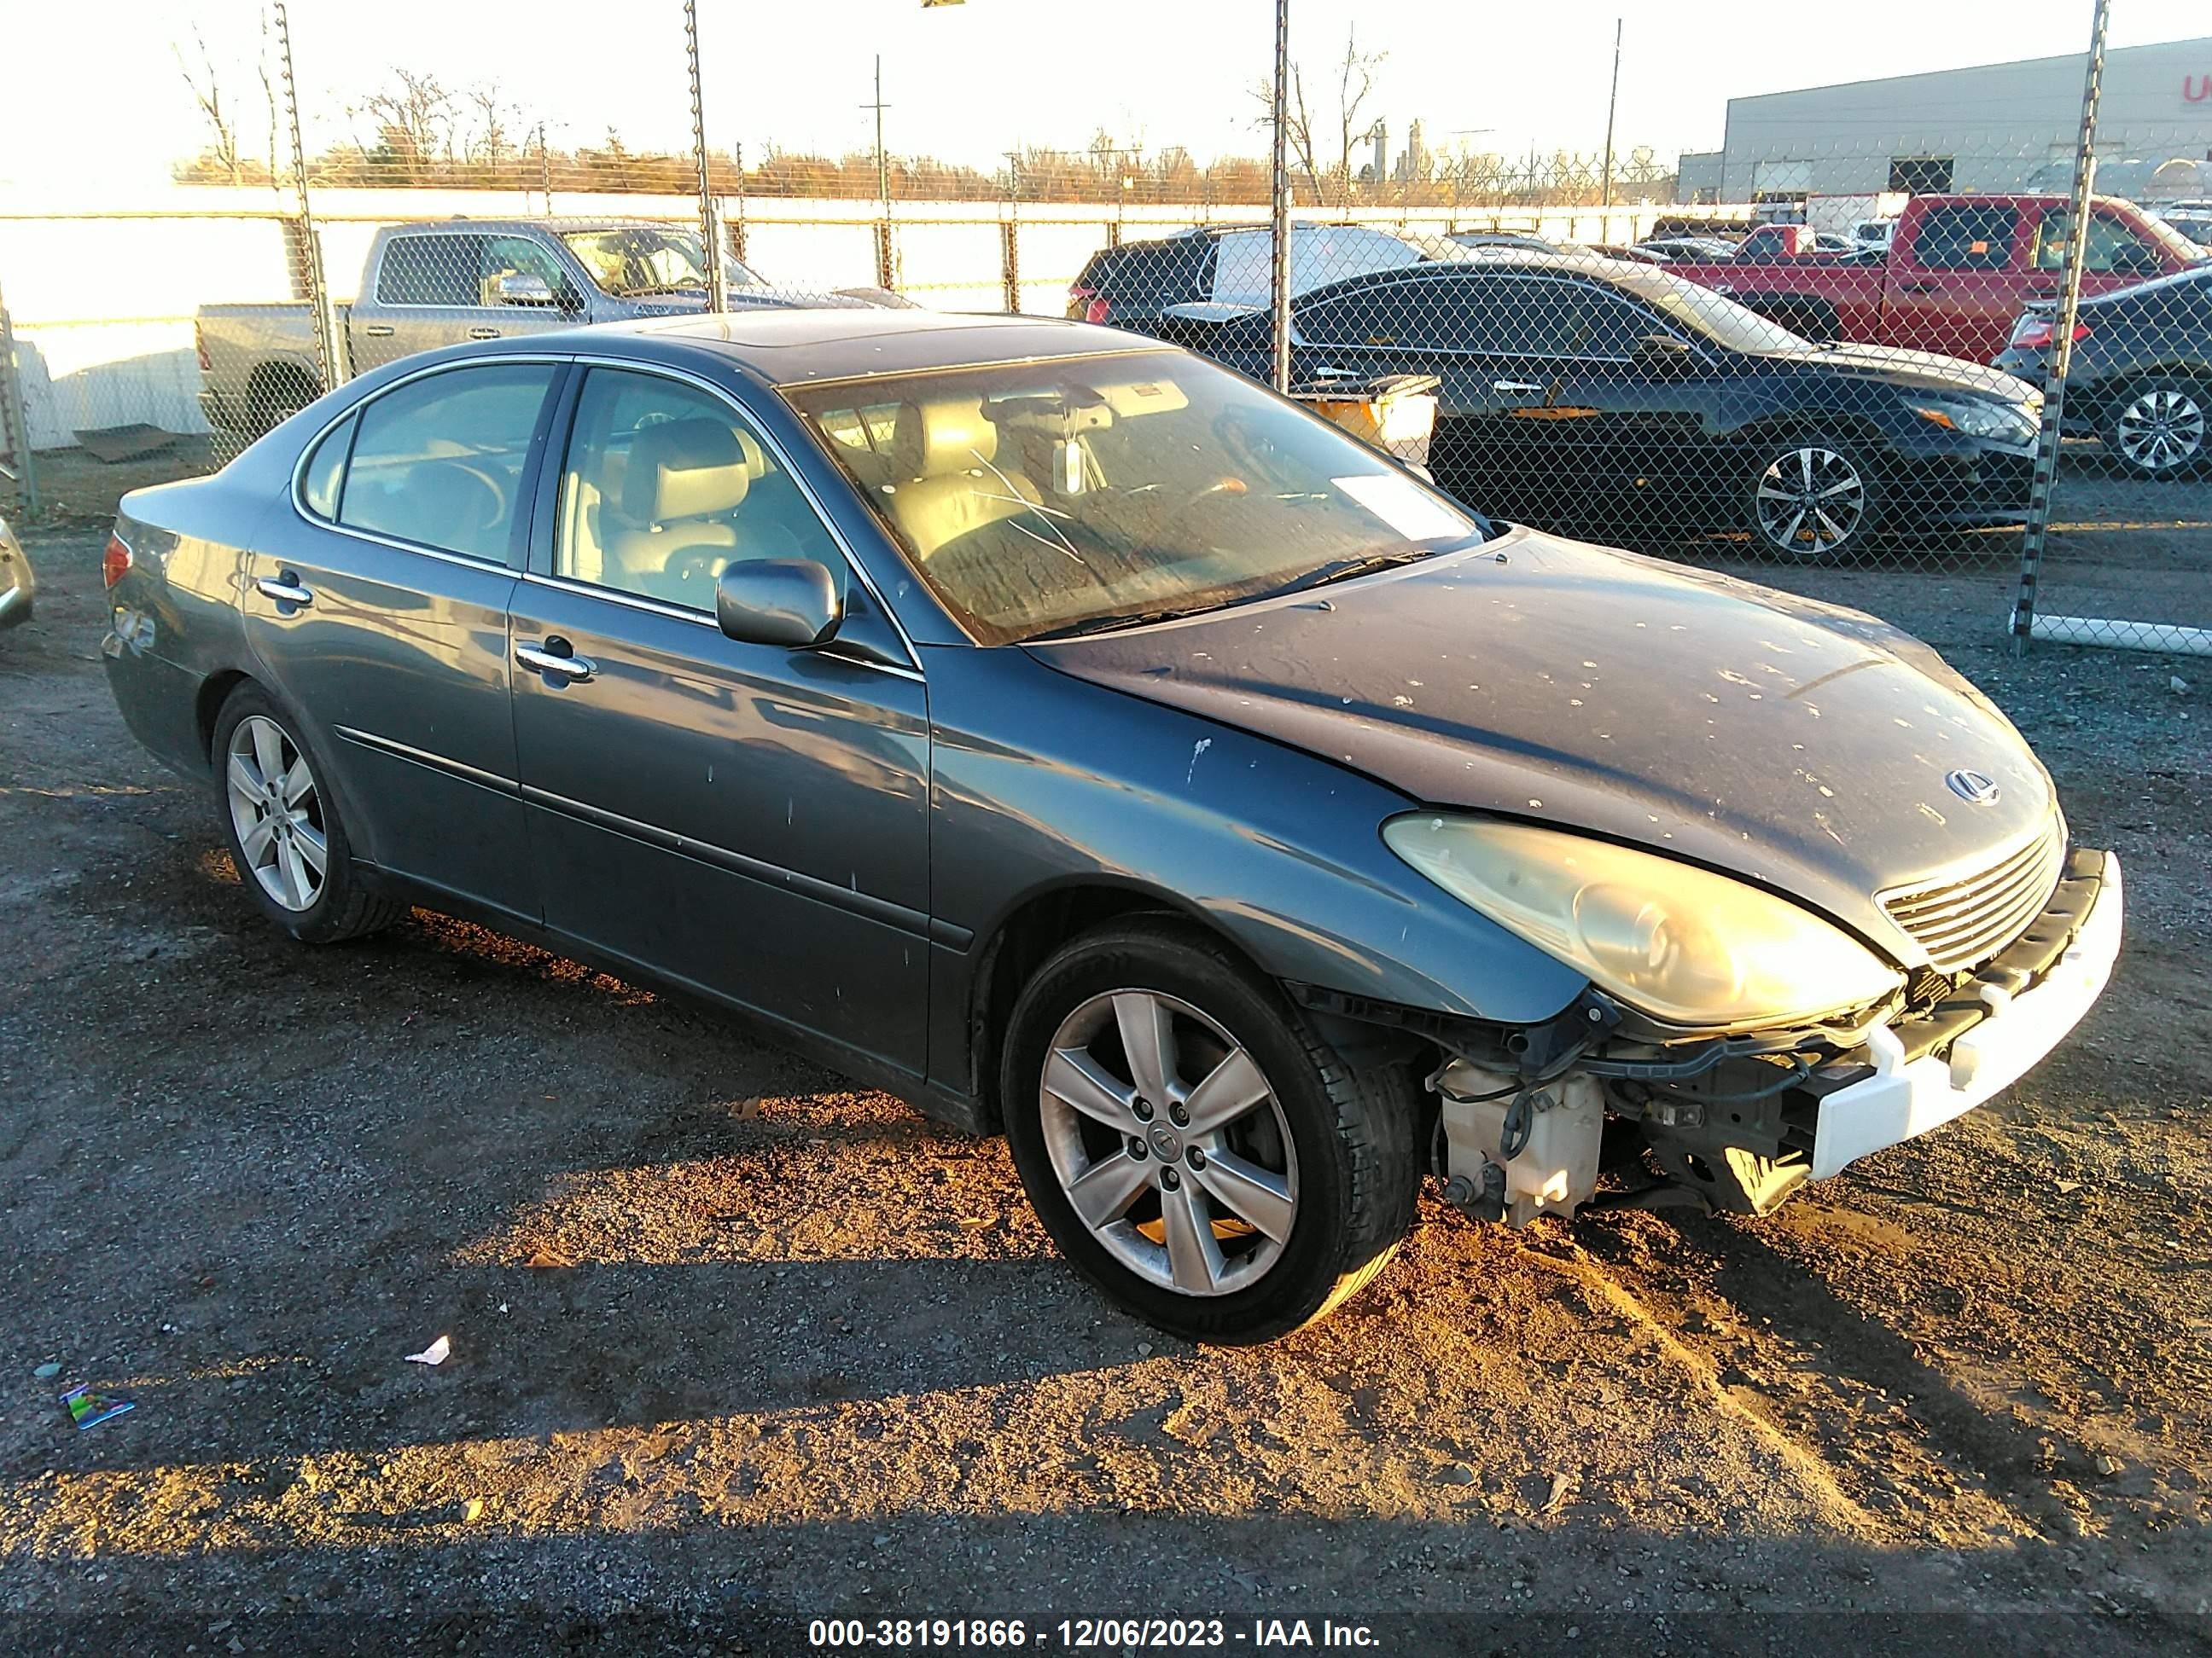
[[[1124,1267],[1077,1218],[1044,1145],[1040,1083],[1060,1021],[1106,990],[1157,990],[1201,1008],[1261,1066],[1298,1158],[1298,1218],[1265,1278],[1228,1295],[1181,1295]],[[1296,1012],[1256,975],[1170,928],[1113,928],[1075,940],[1037,968],[1013,1006],[1000,1061],[1006,1143],[1031,1205],[1060,1251],[1150,1324],[1210,1342],[1259,1342],[1296,1329],[1329,1298],[1347,1262],[1352,1169],[1336,1105]]]

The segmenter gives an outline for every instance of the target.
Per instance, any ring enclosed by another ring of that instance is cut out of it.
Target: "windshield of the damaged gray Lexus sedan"
[[[1181,351],[783,396],[987,646],[1212,610],[1484,535],[1338,427]]]

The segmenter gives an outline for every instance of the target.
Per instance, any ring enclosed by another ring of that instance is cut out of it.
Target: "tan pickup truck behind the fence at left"
[[[730,305],[905,305],[880,287],[781,290],[723,261]],[[338,305],[354,371],[460,340],[706,309],[697,232],[641,219],[447,219],[387,225],[352,305]],[[305,301],[201,305],[199,405],[208,424],[259,436],[323,393]]]

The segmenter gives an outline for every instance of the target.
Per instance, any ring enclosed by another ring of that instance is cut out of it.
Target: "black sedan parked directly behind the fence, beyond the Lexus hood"
[[[1265,376],[1270,321],[1208,349]],[[1334,283],[1292,378],[1433,374],[1429,469],[1486,513],[1599,537],[1743,531],[1838,559],[1876,533],[2017,524],[2039,393],[1931,354],[1812,345],[1668,270],[1491,254]]]

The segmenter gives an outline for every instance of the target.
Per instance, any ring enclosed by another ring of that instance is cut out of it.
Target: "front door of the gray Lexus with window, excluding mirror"
[[[750,557],[825,564],[841,641],[728,639],[714,577]],[[549,926],[920,1077],[925,685],[730,400],[584,376],[511,648]]]

